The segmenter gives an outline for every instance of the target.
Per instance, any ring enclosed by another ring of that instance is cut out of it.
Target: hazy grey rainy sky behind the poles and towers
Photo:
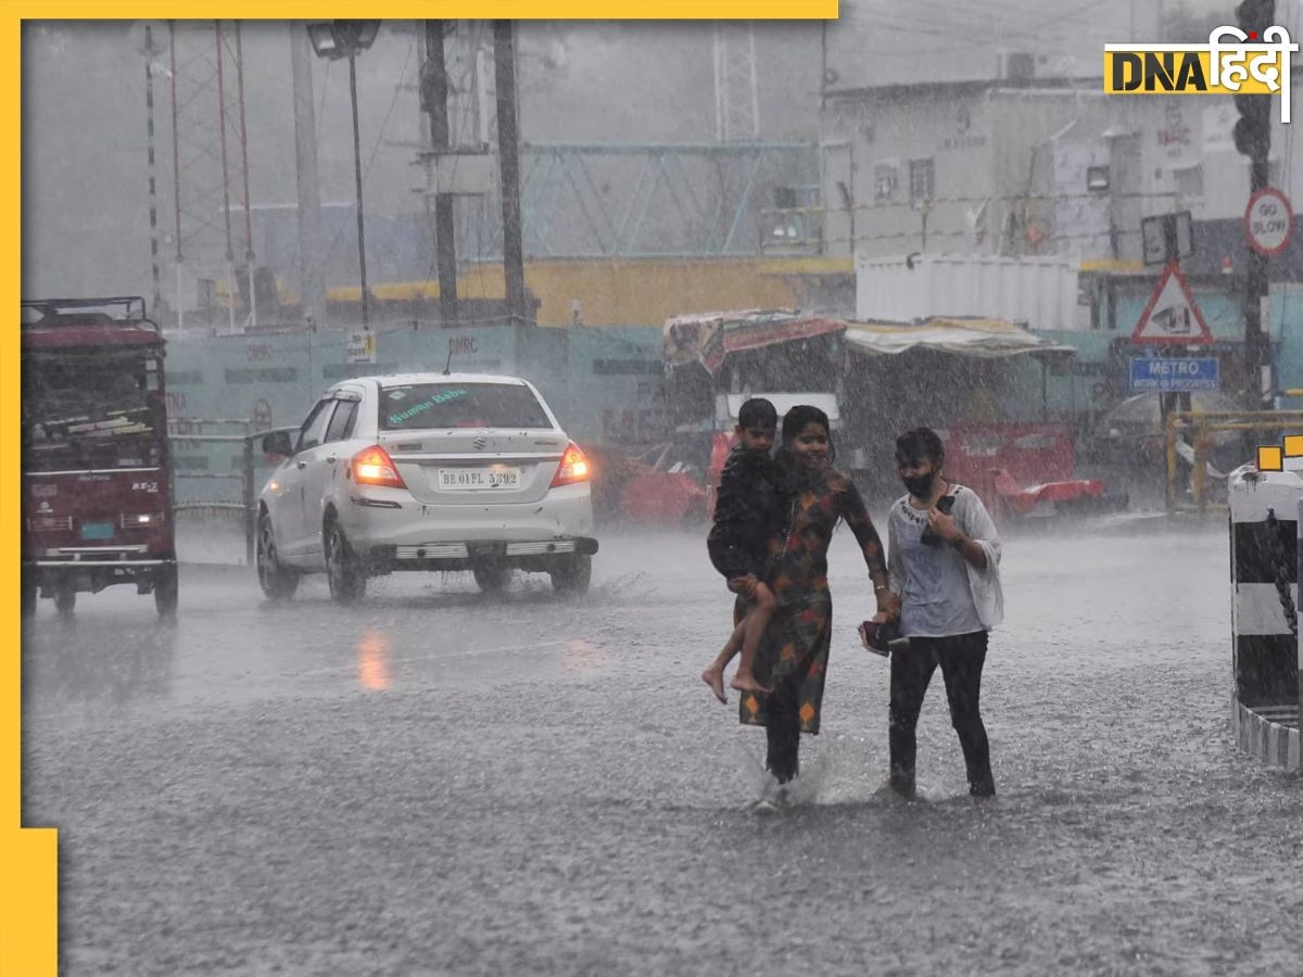
[[[1298,8],[1300,0],[1278,0]],[[1196,14],[1234,4],[1184,0]],[[853,0],[827,26],[837,86],[990,77],[998,50],[1098,73],[1102,46],[1160,36],[1173,0]],[[386,23],[358,60],[367,211],[420,207],[416,31]],[[761,137],[813,139],[823,47],[817,22],[760,25]],[[23,294],[147,293],[145,63],[129,25],[23,27]],[[528,23],[521,30],[521,133],[529,141],[700,142],[715,137],[710,23]],[[294,201],[288,26],[244,30],[250,197]],[[348,70],[314,61],[323,201],[353,198]],[[835,79],[834,79],[835,76]],[[167,90],[156,92],[160,220],[171,214]],[[463,122],[465,120],[461,120]],[[453,120],[457,126],[459,120]],[[464,129],[464,126],[463,126]]]

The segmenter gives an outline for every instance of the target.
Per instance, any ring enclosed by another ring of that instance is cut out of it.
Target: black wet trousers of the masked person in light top
[[[995,793],[990,772],[990,744],[981,722],[981,667],[986,662],[986,632],[946,638],[911,638],[908,650],[891,655],[891,787],[904,795],[915,789],[915,727],[932,673],[941,666],[950,702],[950,722],[959,733],[968,767],[968,792]]]

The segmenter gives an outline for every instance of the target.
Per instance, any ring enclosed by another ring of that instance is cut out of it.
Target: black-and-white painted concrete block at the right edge
[[[1233,732],[1264,763],[1298,770],[1303,478],[1246,465],[1230,475],[1229,502]]]

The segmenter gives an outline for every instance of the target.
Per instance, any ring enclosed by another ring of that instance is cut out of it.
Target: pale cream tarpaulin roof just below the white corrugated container
[[[1074,347],[1033,336],[1005,319],[937,317],[916,324],[900,322],[847,323],[847,348],[864,356],[898,356],[909,349],[936,349],[976,357],[1075,354]]]

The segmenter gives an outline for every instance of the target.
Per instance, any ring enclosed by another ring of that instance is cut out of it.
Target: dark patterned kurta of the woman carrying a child
[[[827,469],[813,487],[792,496],[787,535],[769,543],[774,567],[770,580],[778,610],[756,651],[756,677],[775,690],[744,693],[740,706],[743,723],[767,726],[771,700],[783,694],[784,689],[796,689],[801,732],[818,732],[833,636],[827,545],[839,518],[846,520],[855,534],[869,573],[886,573],[882,541],[848,475]],[[735,621],[740,620],[744,610],[745,602],[739,599],[734,607]]]

